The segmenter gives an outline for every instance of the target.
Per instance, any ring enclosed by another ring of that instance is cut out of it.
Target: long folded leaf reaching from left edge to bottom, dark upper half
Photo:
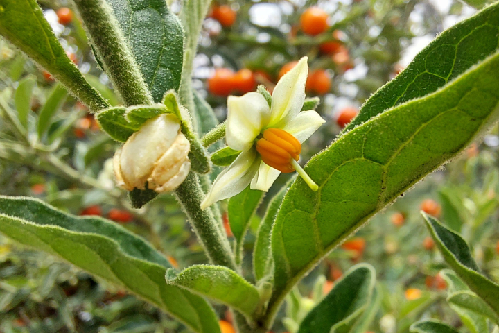
[[[195,332],[220,332],[206,301],[164,283],[168,260],[116,223],[72,216],[32,198],[0,196],[0,231],[127,288]]]

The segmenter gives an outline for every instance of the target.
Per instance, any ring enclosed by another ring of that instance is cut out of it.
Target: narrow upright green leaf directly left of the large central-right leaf
[[[253,274],[256,281],[261,280],[268,275],[272,269],[273,261],[270,253],[270,231],[274,224],[275,216],[281,207],[281,202],[284,194],[288,191],[289,186],[295,180],[292,178],[282,189],[270,200],[267,207],[267,212],[259,225],[256,232],[256,241],[253,249]]]

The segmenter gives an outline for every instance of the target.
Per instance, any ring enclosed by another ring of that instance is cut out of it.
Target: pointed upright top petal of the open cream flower
[[[308,75],[307,57],[284,74],[272,94],[269,127],[280,127],[300,112],[305,101],[305,83]]]

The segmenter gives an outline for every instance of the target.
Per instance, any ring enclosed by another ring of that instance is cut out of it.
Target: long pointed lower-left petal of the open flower
[[[243,191],[258,171],[260,161],[254,149],[240,153],[236,160],[213,182],[207,197],[201,203],[201,209],[204,210],[217,201],[230,198]]]

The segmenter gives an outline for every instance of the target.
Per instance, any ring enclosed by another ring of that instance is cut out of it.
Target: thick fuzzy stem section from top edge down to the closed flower
[[[126,105],[152,104],[152,97],[105,0],[74,0],[98,60]]]

